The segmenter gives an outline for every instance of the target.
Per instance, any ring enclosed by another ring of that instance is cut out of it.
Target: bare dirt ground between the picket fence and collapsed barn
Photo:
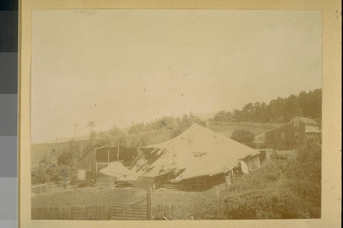
[[[175,189],[158,188],[153,190],[152,202],[156,204],[182,205],[207,197],[216,197],[217,188],[203,192],[186,192]],[[147,190],[143,188],[118,187],[108,188],[67,188],[54,192],[44,192],[32,196],[32,207],[59,207],[67,205],[110,205],[113,203],[135,203],[146,197]]]

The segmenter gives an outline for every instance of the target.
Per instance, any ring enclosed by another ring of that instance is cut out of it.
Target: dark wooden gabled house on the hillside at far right
[[[309,134],[320,134],[319,124],[311,118],[296,116],[291,121],[255,137],[266,148],[295,149]]]

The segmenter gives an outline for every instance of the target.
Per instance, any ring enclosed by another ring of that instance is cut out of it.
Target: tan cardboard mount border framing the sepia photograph
[[[30,108],[32,10],[54,9],[222,9],[320,10],[322,12],[322,218],[294,220],[94,221],[31,220]],[[341,224],[341,60],[342,5],[325,0],[92,1],[23,0],[19,11],[19,227],[340,227]]]

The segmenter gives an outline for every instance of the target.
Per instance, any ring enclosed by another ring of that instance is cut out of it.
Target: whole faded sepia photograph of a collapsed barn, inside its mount
[[[320,10],[32,10],[30,64],[32,220],[322,218]]]

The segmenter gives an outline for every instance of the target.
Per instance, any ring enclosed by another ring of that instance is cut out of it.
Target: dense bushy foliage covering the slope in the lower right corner
[[[294,160],[272,160],[220,197],[187,207],[196,219],[320,218],[321,138],[310,136]]]

